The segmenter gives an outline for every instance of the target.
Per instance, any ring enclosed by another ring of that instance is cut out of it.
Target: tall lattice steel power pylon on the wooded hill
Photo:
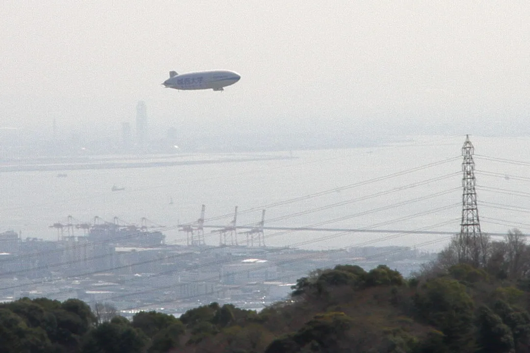
[[[481,231],[479,222],[479,210],[476,206],[475,190],[475,162],[473,161],[474,147],[466,135],[464,146],[462,147],[462,223],[460,223],[460,244],[461,260],[471,260],[475,265],[479,261],[479,242],[481,241]]]

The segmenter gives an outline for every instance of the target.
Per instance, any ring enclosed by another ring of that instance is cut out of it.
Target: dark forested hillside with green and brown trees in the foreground
[[[260,313],[212,303],[129,321],[84,302],[0,305],[0,352],[530,352],[530,250],[455,237],[413,278],[379,266],[318,269]]]

